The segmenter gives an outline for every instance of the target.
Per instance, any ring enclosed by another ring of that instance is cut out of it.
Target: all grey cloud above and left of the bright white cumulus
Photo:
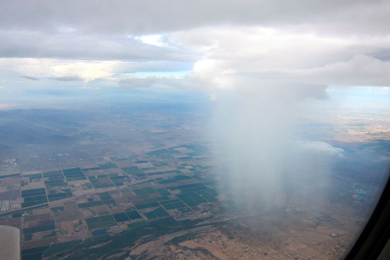
[[[0,56],[194,60],[183,45],[161,48],[127,36],[207,26],[260,26],[341,37],[387,36],[389,13],[390,2],[381,0],[31,0],[23,4],[4,0],[0,3]],[[383,56],[387,50],[374,51]]]

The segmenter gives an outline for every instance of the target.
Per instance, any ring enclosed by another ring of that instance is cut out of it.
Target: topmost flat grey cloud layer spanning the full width
[[[0,28],[149,34],[205,25],[301,26],[343,34],[387,33],[384,0],[5,0]],[[353,20],[353,23],[351,21]]]

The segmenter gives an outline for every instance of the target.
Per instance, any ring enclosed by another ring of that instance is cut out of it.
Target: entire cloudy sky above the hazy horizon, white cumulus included
[[[389,14],[385,0],[2,0],[0,102],[166,86],[210,100],[321,99],[343,86],[389,96]]]

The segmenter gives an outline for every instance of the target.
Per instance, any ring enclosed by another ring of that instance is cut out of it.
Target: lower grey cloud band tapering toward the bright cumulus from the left
[[[80,60],[194,60],[181,49],[144,44],[121,36],[0,31],[0,57]]]

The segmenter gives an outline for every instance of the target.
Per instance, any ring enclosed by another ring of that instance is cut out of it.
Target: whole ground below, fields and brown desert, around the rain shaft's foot
[[[286,177],[282,202],[270,207],[253,189],[232,187],[214,148],[200,141],[202,120],[183,113],[167,125],[145,115],[110,114],[116,127],[102,119],[80,124],[73,135],[88,135],[66,152],[49,143],[40,154],[3,157],[0,223],[20,229],[23,260],[341,258],[381,189],[375,167],[384,160],[376,155],[387,141],[339,143],[352,159],[321,181]],[[364,174],[351,171],[367,153]]]

